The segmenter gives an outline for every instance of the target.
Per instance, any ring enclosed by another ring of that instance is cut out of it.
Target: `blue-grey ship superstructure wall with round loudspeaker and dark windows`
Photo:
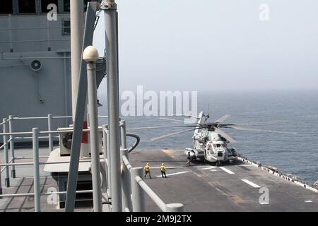
[[[1,119],[71,116],[70,34],[69,0],[1,1]],[[98,73],[98,84],[104,73]],[[52,129],[69,124],[71,118],[54,119]],[[18,130],[33,126],[20,121]],[[45,130],[47,122],[38,120],[37,126]]]

